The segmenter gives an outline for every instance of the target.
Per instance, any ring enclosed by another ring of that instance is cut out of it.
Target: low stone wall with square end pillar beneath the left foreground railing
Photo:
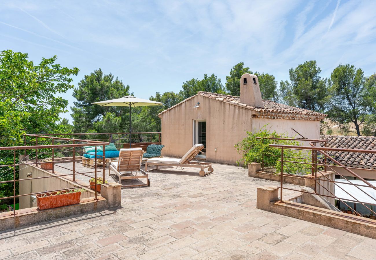
[[[0,213],[0,232],[58,218],[120,207],[121,184],[106,183],[101,185],[102,196],[98,195],[97,200],[95,197],[83,198],[79,204],[46,210],[38,210],[37,207],[20,209],[16,210],[15,216],[11,215],[13,212]]]

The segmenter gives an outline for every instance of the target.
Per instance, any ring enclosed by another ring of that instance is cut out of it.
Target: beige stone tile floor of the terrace
[[[278,183],[213,167],[153,171],[150,187],[121,191],[123,207],[2,233],[0,258],[376,258],[376,240],[256,209],[256,187]]]

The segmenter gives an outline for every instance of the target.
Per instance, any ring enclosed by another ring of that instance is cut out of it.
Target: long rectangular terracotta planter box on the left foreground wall
[[[62,190],[65,192],[67,190]],[[36,195],[36,206],[40,210],[53,209],[73,204],[80,203],[81,192],[72,192],[66,194],[56,195],[57,192],[47,193],[47,195],[53,194],[52,196],[41,197],[43,193]]]

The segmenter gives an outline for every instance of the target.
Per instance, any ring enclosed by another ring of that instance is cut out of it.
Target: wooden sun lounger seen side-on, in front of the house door
[[[148,159],[145,163],[145,171],[153,171],[159,169],[159,166],[174,166],[174,167],[194,167],[200,168],[199,175],[205,176],[205,174],[211,173],[214,171],[212,164],[208,162],[193,162],[192,160],[200,153],[204,148],[202,144],[194,145],[183,157],[182,159],[176,158],[152,158]],[[149,166],[156,166],[154,169],[149,169]],[[205,169],[208,168],[208,172],[205,172]]]

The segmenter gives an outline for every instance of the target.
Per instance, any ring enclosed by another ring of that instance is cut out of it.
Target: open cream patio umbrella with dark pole
[[[153,100],[147,100],[143,98],[136,98],[133,96],[125,96],[122,98],[116,98],[111,100],[105,100],[105,101],[99,101],[94,102],[91,104],[97,104],[101,107],[108,107],[108,106],[129,106],[129,147],[132,148],[132,139],[131,139],[131,133],[132,133],[132,121],[131,121],[131,107],[140,107],[140,106],[162,106],[163,103],[153,101]]]

